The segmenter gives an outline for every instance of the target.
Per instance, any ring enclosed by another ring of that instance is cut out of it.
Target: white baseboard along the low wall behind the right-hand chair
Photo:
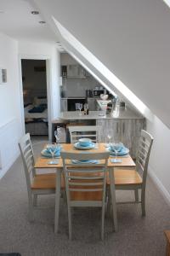
[[[169,194],[169,192],[163,186],[160,179],[156,176],[156,173],[150,167],[148,168],[148,173],[149,173],[151,179],[153,180],[153,182],[156,184],[156,187],[161,192],[161,195],[163,195],[163,198],[165,199],[165,201],[167,201],[167,204],[170,206],[170,194]]]

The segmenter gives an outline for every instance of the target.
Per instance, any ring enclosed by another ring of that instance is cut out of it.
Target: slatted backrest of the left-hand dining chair
[[[26,135],[20,138],[19,148],[25,168],[26,183],[28,188],[31,188],[31,175],[35,176],[35,160],[29,133],[26,133]]]

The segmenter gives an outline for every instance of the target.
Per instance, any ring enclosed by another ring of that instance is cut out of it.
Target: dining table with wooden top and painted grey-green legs
[[[46,147],[46,146],[45,146]],[[87,150],[77,149],[74,144],[71,143],[62,143],[60,144],[61,150],[69,151],[72,153],[82,153]],[[96,143],[96,147],[88,149],[88,152],[105,152],[108,148],[105,147],[105,143]],[[115,179],[114,179],[114,168],[116,167],[134,167],[135,163],[131,158],[130,154],[117,156],[117,159],[120,159],[120,162],[113,162],[111,159],[115,158],[110,156],[108,160],[108,172],[110,178],[110,188],[111,188],[111,207],[112,207],[112,217],[113,217],[113,228],[117,231],[117,216],[116,216],[116,189],[115,189]],[[60,186],[61,186],[61,173],[63,172],[63,161],[59,157],[56,164],[51,164],[53,162],[49,161],[49,158],[46,158],[40,155],[35,161],[35,168],[53,168],[56,171],[56,189],[55,189],[55,210],[54,210],[54,232],[57,233],[59,230],[59,199],[60,199]],[[94,166],[94,164],[93,164]]]

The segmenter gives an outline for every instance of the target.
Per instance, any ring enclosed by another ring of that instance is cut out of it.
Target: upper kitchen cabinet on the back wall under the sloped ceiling
[[[86,79],[87,71],[78,64],[61,66],[62,77],[67,79]]]

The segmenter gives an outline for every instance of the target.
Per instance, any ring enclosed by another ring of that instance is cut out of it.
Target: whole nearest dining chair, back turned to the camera
[[[67,196],[69,238],[71,239],[71,207],[101,207],[101,239],[104,239],[105,187],[108,152],[61,152]],[[72,160],[99,160],[96,164],[73,163]]]

